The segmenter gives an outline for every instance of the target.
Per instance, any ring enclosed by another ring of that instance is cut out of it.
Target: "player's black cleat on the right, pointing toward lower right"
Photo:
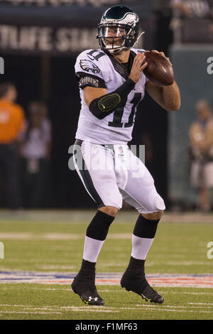
[[[145,301],[151,303],[163,303],[163,297],[155,291],[146,281],[145,274],[136,274],[133,271],[126,269],[121,278],[121,287],[127,291],[138,293]]]

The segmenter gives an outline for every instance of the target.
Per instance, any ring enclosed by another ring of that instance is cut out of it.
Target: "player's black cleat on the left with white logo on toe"
[[[77,293],[87,305],[103,306],[104,300],[97,293],[97,289],[91,281],[80,281],[75,279],[71,284],[72,290]]]

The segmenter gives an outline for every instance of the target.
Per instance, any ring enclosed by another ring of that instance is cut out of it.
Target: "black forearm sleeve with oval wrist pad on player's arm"
[[[114,112],[115,109],[123,107],[126,103],[126,97],[129,95],[136,83],[133,80],[128,79],[119,88],[109,94],[103,95],[94,99],[89,104],[89,110],[98,119],[104,119],[104,117]]]

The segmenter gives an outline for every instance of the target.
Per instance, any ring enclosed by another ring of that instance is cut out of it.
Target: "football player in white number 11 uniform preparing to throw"
[[[148,169],[127,143],[145,89],[168,111],[180,108],[180,92],[175,82],[158,86],[143,74],[147,65],[144,50],[134,48],[138,35],[137,14],[126,6],[113,6],[98,25],[100,48],[85,50],[75,64],[82,108],[74,163],[84,187],[97,203],[97,212],[87,227],[82,266],[72,281],[72,290],[90,305],[104,305],[95,286],[95,265],[122,200],[136,208],[139,215],[121,286],[146,301],[163,303],[163,297],[146,280],[144,263],[165,205]]]

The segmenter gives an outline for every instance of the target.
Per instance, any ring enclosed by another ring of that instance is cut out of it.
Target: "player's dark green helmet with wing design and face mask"
[[[99,45],[109,53],[133,48],[138,41],[138,15],[126,6],[113,6],[102,16],[98,25]]]

